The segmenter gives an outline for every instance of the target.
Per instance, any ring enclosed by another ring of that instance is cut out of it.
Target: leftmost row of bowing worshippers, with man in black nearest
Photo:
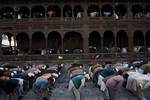
[[[29,90],[30,78],[38,74],[40,70],[28,73],[27,68],[3,64],[0,68],[1,94],[6,95],[9,100],[21,99]]]

